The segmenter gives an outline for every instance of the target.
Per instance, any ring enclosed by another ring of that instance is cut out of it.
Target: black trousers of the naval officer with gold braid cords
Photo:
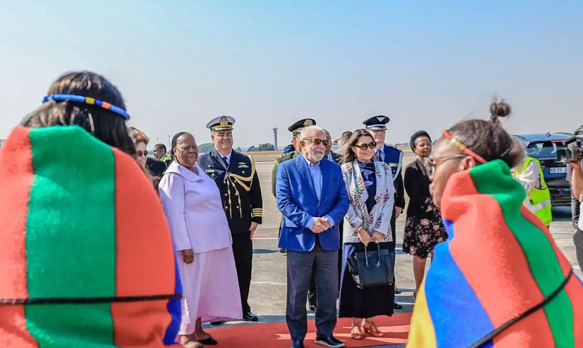
[[[251,312],[249,306],[249,288],[251,287],[251,270],[253,267],[253,240],[248,233],[233,236],[233,256],[237,268],[239,291],[241,293],[241,307],[243,314]]]

